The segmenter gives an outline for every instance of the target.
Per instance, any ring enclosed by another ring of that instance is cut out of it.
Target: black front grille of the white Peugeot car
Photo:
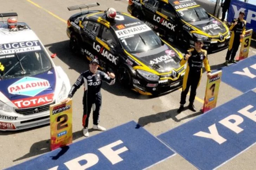
[[[44,106],[39,106],[39,107],[33,107],[33,108],[27,108],[27,109],[15,109],[15,111],[16,111],[16,113],[21,114],[21,115],[38,114],[38,113],[42,113],[45,111],[49,111],[51,104],[55,104],[55,102],[46,104]],[[37,109],[38,109],[38,112],[35,112],[35,110],[37,110]]]

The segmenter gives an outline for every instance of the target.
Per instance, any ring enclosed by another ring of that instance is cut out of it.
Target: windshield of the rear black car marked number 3
[[[196,22],[201,20],[209,19],[211,16],[207,14],[204,8],[186,8],[180,11],[177,11],[180,18],[186,22]]]

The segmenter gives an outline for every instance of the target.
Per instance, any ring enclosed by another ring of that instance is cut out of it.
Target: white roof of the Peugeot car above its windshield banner
[[[9,31],[7,25],[1,24],[0,37],[0,44],[39,40],[38,36],[30,28],[19,31]]]

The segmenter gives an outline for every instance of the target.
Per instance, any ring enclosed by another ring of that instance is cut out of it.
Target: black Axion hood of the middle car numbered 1
[[[166,44],[147,52],[132,54],[141,62],[156,70],[158,73],[170,72],[173,68],[180,67],[179,54]]]

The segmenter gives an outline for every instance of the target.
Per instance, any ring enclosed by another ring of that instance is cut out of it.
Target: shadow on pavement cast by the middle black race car
[[[85,57],[79,57],[71,53],[69,49],[69,40],[56,42],[52,44],[45,45],[46,48],[49,48],[51,53],[56,53],[57,57],[62,60],[65,64],[69,66],[69,69],[75,70],[78,73],[82,73],[85,70],[89,69],[89,62]],[[53,59],[54,61],[54,59]],[[70,82],[71,85],[75,82]],[[117,96],[126,96],[129,98],[136,99],[149,99],[148,96],[142,96],[136,93],[133,90],[124,88],[116,79],[114,85],[109,86],[107,83],[102,84],[102,88],[108,91],[111,94]]]

